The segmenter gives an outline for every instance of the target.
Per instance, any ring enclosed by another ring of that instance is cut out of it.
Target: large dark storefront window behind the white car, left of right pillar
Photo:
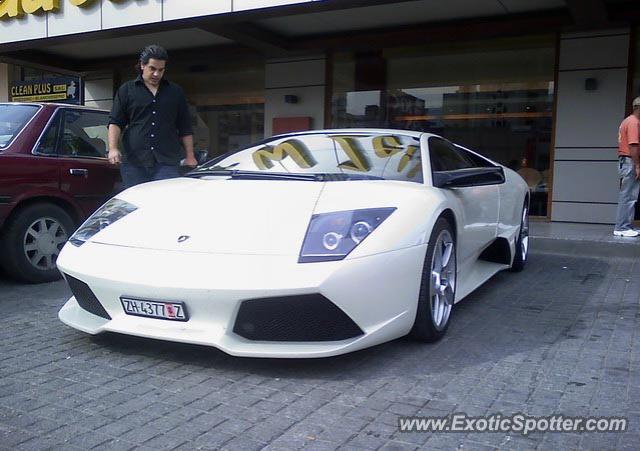
[[[518,171],[547,216],[554,66],[553,36],[336,54],[332,125],[444,136]]]

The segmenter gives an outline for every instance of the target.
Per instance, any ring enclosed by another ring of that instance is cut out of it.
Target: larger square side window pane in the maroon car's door
[[[66,110],[62,120],[62,136],[58,154],[70,157],[106,158],[108,142],[106,113]]]

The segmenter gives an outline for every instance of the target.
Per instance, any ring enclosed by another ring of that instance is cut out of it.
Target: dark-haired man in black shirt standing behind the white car
[[[178,177],[178,166],[196,166],[193,130],[182,88],[163,78],[166,50],[150,45],[140,54],[138,78],[123,84],[109,117],[109,161],[120,164],[128,188]],[[119,149],[122,136],[122,152]],[[184,150],[183,150],[184,148]]]

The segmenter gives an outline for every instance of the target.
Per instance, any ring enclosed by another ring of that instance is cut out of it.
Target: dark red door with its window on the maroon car
[[[85,215],[121,189],[120,172],[107,160],[109,115],[103,111],[61,108],[38,145],[39,154],[55,155],[60,189]]]

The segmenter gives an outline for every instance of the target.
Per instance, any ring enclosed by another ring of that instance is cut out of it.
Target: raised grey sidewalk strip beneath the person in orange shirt
[[[640,237],[613,236],[613,225],[531,221],[531,251],[617,258],[640,257]]]

